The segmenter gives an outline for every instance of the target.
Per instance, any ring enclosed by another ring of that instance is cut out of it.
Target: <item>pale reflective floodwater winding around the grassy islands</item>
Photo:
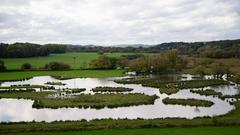
[[[182,80],[191,80],[193,77],[190,75],[182,75]],[[86,88],[83,93],[94,94],[90,91],[92,88],[98,86],[111,86],[111,87],[127,87],[133,88],[130,93],[144,93],[146,95],[157,95],[159,98],[155,100],[152,105],[138,105],[130,107],[118,108],[58,108],[58,109],[36,109],[32,108],[33,100],[26,99],[0,99],[0,122],[18,122],[18,121],[56,121],[56,120],[92,120],[103,118],[167,118],[167,117],[181,117],[181,118],[194,118],[199,116],[215,116],[226,114],[234,109],[227,101],[221,100],[213,96],[201,96],[190,92],[190,89],[184,89],[176,94],[166,95],[159,93],[157,88],[143,87],[138,84],[118,84],[113,80],[117,78],[76,78],[68,80],[57,80],[50,76],[34,77],[29,80],[3,82],[2,86],[10,86],[17,84],[30,84],[30,85],[45,85],[46,82],[62,82],[65,86],[57,86],[56,88]],[[211,76],[206,76],[206,79]],[[208,87],[206,87],[208,88]],[[204,89],[206,89],[204,88]],[[240,88],[237,85],[211,87],[216,91],[222,92],[224,95],[238,94]],[[205,99],[214,102],[211,107],[192,107],[182,105],[165,105],[162,99],[165,97],[170,98],[196,98]]]

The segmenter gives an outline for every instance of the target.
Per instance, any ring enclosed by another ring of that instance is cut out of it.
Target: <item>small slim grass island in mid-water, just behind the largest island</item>
[[[132,90],[131,88],[124,87],[96,87],[92,89],[94,92],[129,92]]]

